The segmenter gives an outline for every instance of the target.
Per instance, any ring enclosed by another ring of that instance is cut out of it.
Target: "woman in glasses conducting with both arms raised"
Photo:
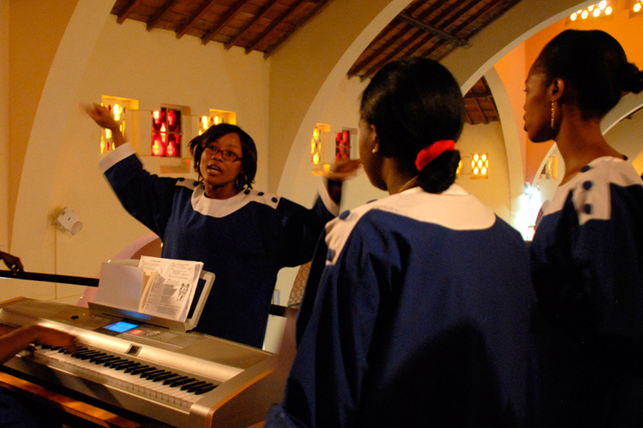
[[[329,180],[312,209],[251,189],[256,146],[231,124],[190,141],[198,181],[151,175],[109,111],[88,113],[114,135],[116,149],[101,169],[125,209],[161,237],[162,257],[200,261],[216,275],[196,330],[261,347],[277,272],[311,259],[321,229],[339,211],[341,181]],[[333,178],[357,166],[343,164]]]

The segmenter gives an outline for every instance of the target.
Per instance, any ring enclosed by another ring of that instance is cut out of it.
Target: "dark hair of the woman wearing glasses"
[[[212,141],[216,141],[226,134],[237,134],[241,140],[241,166],[244,171],[236,176],[234,187],[241,191],[248,187],[252,189],[254,175],[256,174],[256,145],[246,131],[239,126],[232,124],[218,124],[210,126],[203,134],[195,136],[190,141],[190,153],[194,159],[194,171],[199,174],[199,181],[203,181],[201,176],[201,154],[205,147]]]

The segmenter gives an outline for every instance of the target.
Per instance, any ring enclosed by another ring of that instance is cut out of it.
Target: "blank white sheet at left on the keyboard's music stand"
[[[126,264],[101,264],[96,303],[138,312],[143,287],[143,269]]]

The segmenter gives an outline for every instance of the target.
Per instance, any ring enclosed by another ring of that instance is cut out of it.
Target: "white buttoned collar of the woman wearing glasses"
[[[205,187],[203,184],[199,184],[199,186],[194,189],[191,197],[192,209],[204,216],[218,218],[226,217],[235,211],[239,211],[239,209],[252,201],[271,206],[273,209],[276,209],[280,199],[279,196],[274,194],[253,189],[240,191],[238,194],[227,199],[209,198],[205,196],[204,191]]]

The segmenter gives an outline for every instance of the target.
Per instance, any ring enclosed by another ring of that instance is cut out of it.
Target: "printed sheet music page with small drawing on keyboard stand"
[[[142,256],[139,268],[156,271],[154,282],[146,290],[146,302],[141,302],[142,312],[184,322],[194,299],[203,263]]]

